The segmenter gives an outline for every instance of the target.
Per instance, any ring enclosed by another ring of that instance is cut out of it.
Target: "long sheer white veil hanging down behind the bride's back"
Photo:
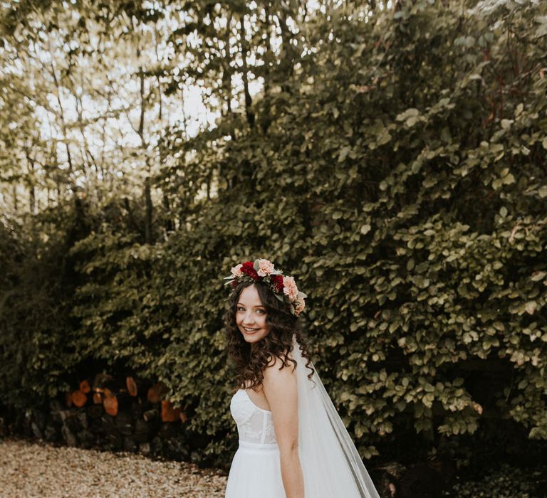
[[[298,450],[306,498],[380,498],[318,373],[308,379],[296,337],[292,355],[298,363]]]

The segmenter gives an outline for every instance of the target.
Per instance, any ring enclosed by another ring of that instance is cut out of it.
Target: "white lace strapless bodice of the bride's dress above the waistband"
[[[244,389],[231,397],[230,412],[236,421],[240,441],[262,445],[277,443],[271,411],[256,406]]]

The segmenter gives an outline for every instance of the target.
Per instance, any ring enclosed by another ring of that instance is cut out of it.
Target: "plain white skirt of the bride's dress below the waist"
[[[225,497],[286,498],[276,443],[261,445],[239,441],[231,461]]]

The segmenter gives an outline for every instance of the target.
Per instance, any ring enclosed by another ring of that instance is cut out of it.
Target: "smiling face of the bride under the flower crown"
[[[266,327],[266,308],[254,285],[241,291],[236,304],[236,324],[247,342],[258,342],[269,334]]]

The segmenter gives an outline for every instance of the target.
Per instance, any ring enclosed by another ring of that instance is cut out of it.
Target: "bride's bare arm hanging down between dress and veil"
[[[264,396],[268,400],[276,431],[285,494],[287,498],[304,498],[304,480],[298,456],[296,371],[293,371],[291,363],[280,370],[281,364],[281,360],[276,358],[275,364],[264,371]]]

